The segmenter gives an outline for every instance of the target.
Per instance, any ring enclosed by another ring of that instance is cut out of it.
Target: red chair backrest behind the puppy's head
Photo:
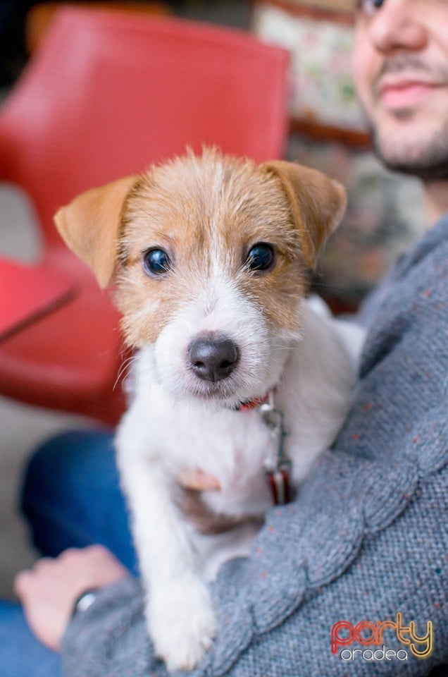
[[[58,246],[61,204],[186,145],[281,157],[286,71],[284,50],[244,32],[63,8],[0,116],[8,178]]]

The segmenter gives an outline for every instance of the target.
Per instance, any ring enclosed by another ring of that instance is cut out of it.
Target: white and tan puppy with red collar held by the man
[[[192,669],[211,646],[207,580],[248,554],[273,500],[288,499],[347,412],[353,355],[305,301],[307,269],[345,202],[317,171],[204,150],[56,215],[101,287],[115,281],[137,349],[116,450],[147,625],[170,670]],[[183,516],[188,468],[218,480],[201,504],[225,532],[204,535]]]

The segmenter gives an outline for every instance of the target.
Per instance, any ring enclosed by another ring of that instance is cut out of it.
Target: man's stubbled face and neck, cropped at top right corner
[[[353,72],[375,149],[423,179],[431,224],[448,209],[447,31],[444,2],[359,4]]]

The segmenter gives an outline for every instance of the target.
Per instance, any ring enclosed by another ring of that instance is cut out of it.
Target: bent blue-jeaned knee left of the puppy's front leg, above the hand
[[[111,432],[67,432],[37,450],[27,467],[22,510],[43,555],[93,543],[137,573]]]

